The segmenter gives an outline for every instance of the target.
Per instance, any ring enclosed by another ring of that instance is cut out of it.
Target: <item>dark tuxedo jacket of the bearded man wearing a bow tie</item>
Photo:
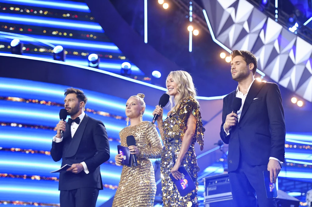
[[[52,142],[51,156],[54,161],[62,159],[62,166],[85,162],[89,173],[61,172],[59,190],[83,187],[103,189],[100,164],[110,158],[110,146],[104,124],[85,114],[73,138],[71,126],[66,123],[63,140]]]

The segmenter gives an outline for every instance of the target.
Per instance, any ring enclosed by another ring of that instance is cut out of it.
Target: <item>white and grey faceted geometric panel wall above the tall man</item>
[[[203,0],[216,40],[230,50],[250,50],[258,69],[312,102],[312,45],[246,0]]]

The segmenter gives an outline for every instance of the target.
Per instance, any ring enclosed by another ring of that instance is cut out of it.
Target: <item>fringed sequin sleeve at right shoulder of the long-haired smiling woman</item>
[[[204,149],[204,131],[205,128],[202,127],[202,116],[200,114],[200,109],[198,103],[193,99],[192,97],[189,97],[187,100],[187,104],[184,106],[184,110],[187,111],[187,118],[193,114],[193,116],[196,118],[196,130],[195,130],[195,137],[200,145],[200,150]]]

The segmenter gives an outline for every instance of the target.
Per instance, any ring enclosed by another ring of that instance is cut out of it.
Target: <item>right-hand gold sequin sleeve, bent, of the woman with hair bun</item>
[[[156,127],[151,122],[144,129],[146,137],[149,140],[149,145],[141,146],[139,149],[138,158],[157,159],[161,157],[163,148]]]

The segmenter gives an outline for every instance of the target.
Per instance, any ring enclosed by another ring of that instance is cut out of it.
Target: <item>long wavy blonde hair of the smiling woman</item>
[[[172,75],[173,80],[177,84],[177,92],[178,92],[178,96],[176,99],[174,99],[174,96],[170,96],[169,101],[171,110],[176,110],[178,108],[180,101],[190,96],[193,99],[195,99],[195,101],[199,105],[197,99],[195,98],[197,96],[197,92],[193,83],[192,76],[186,71],[171,71],[168,76],[170,75]]]

